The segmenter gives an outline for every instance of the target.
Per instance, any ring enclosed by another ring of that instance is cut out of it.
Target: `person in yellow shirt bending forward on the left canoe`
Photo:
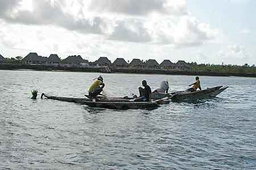
[[[93,84],[90,86],[89,91],[89,96],[91,98],[96,98],[96,96],[98,96],[103,88],[104,88],[105,84],[103,83],[103,78],[101,76],[99,76],[97,78],[96,81],[93,82]]]

